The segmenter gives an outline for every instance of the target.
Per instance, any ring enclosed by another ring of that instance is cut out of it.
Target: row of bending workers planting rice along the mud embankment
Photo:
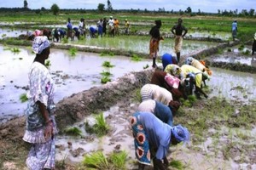
[[[171,63],[171,64],[170,64]],[[153,161],[154,170],[167,169],[171,144],[189,142],[189,130],[174,125],[173,116],[181,105],[180,99],[193,94],[201,99],[202,82],[212,75],[203,61],[189,57],[178,66],[176,57],[162,56],[163,70],[154,70],[150,83],[141,88],[142,102],[130,117],[138,169],[143,170]]]

